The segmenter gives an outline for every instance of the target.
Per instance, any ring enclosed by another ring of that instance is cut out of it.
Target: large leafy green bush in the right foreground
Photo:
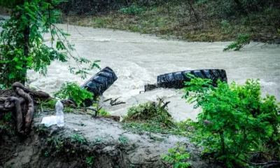
[[[248,160],[247,153],[260,151],[263,144],[270,151],[279,148],[279,106],[274,96],[261,98],[258,80],[245,85],[218,81],[215,88],[210,79],[193,78],[185,90],[188,102],[203,109],[198,123],[193,123],[197,129],[193,141],[204,146],[204,153],[227,167],[243,167],[240,160]]]

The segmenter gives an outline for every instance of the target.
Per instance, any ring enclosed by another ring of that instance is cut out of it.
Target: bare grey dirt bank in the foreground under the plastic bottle
[[[187,146],[193,167],[216,167],[186,137],[134,134],[113,120],[73,113],[65,115],[62,129],[47,128],[40,126],[43,116],[34,118],[26,139],[1,133],[0,167],[168,167],[160,155],[177,142]]]

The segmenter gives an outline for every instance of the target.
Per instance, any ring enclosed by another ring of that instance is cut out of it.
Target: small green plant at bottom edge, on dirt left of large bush
[[[162,154],[161,158],[172,164],[174,168],[186,168],[191,166],[189,162],[185,162],[186,159],[190,158],[190,154],[186,153],[186,147],[181,146],[179,142],[176,144],[176,148],[170,148],[168,154]]]

